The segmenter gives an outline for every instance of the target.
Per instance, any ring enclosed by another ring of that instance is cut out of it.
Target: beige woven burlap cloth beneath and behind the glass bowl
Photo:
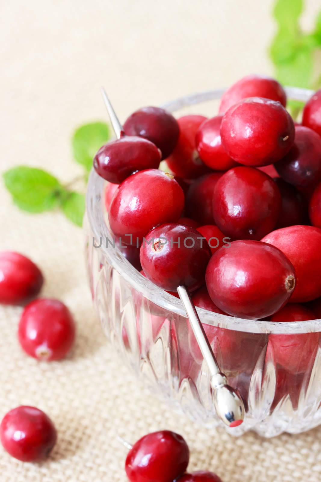
[[[310,25],[319,0],[307,3]],[[141,105],[269,72],[270,9],[270,1],[256,0],[2,2],[1,171],[25,163],[66,182],[77,176],[68,139],[78,124],[105,117],[101,84],[124,118]],[[213,470],[225,482],[320,481],[320,428],[233,439],[177,415],[138,384],[105,342],[91,307],[83,233],[62,214],[19,212],[0,187],[0,249],[35,260],[46,277],[42,294],[63,300],[77,320],[68,359],[39,363],[18,345],[21,309],[0,307],[0,417],[35,405],[59,433],[41,465],[0,448],[1,482],[124,482],[127,451],[117,434],[135,441],[160,428],[186,437],[190,470]]]

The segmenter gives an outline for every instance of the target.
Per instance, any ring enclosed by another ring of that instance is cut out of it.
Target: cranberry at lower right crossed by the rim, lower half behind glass
[[[287,304],[271,317],[271,321],[288,322],[314,319],[314,313],[298,303]],[[318,341],[319,333],[269,335],[275,362],[290,373],[308,370],[310,361],[314,359]]]

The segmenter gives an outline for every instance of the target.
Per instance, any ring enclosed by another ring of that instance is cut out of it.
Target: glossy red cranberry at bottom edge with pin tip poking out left
[[[188,466],[190,451],[183,437],[169,430],[149,433],[129,450],[125,470],[130,482],[173,482]]]

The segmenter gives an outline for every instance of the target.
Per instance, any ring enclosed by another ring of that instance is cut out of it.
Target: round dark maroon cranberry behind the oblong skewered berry
[[[124,124],[127,135],[139,135],[153,142],[162,152],[162,159],[171,154],[177,144],[180,127],[167,110],[142,107],[131,114]]]

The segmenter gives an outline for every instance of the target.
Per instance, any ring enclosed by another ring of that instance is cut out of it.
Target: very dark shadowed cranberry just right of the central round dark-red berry
[[[308,209],[302,194],[281,177],[276,177],[274,181],[281,193],[281,210],[276,228],[305,224],[308,220]]]

